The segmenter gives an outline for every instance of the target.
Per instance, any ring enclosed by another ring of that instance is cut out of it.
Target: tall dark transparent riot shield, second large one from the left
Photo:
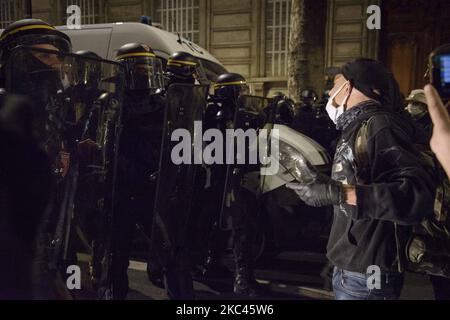
[[[150,244],[150,259],[162,266],[179,259],[188,248],[192,198],[202,163],[198,126],[207,93],[207,85],[189,84],[172,84],[167,91]]]

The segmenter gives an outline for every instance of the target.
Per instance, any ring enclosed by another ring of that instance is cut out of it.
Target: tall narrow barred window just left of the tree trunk
[[[266,76],[287,74],[290,0],[268,0],[266,5]]]

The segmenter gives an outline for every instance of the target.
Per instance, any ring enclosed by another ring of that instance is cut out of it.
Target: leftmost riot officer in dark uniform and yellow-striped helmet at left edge
[[[8,274],[2,270],[2,275],[7,279],[6,282],[4,279],[0,282],[5,284],[2,289],[7,291],[6,296],[0,296],[55,298],[54,279],[47,273],[45,246],[48,242],[45,231],[49,210],[44,209],[48,209],[50,195],[54,195],[55,185],[65,174],[67,167],[60,158],[64,140],[59,131],[61,123],[56,117],[49,119],[46,108],[49,107],[49,98],[55,96],[58,89],[63,90],[64,86],[59,77],[60,61],[56,55],[37,55],[22,51],[23,55],[28,56],[22,56],[20,61],[9,60],[17,52],[16,49],[23,46],[57,52],[71,51],[69,37],[40,19],[18,20],[6,27],[0,36],[2,86],[8,86],[11,94],[8,97],[11,99],[13,94],[30,98],[24,103],[16,103],[17,100],[5,102],[0,107],[7,114],[3,115],[4,123],[0,125],[0,149],[2,155],[5,155],[2,157],[2,166],[7,168],[0,169],[7,173],[0,178],[0,189],[6,188],[10,196],[6,199],[0,196],[2,205],[6,204],[8,207],[6,210],[0,208],[0,219],[4,222],[6,220],[6,224],[0,225],[7,229],[0,231],[1,242],[8,247],[7,250],[0,251],[6,253],[1,258],[2,264],[12,272]],[[23,72],[9,72],[12,69]],[[25,74],[29,76],[28,79],[22,78]],[[16,86],[9,87],[11,83]],[[26,130],[18,132],[20,127]],[[13,141],[14,146],[11,145]],[[9,217],[8,214],[4,215],[8,212],[12,214]]]

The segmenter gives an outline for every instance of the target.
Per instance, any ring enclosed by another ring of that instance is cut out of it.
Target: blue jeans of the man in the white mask
[[[402,273],[381,273],[380,289],[369,289],[364,273],[334,267],[333,291],[336,300],[397,300],[403,287]]]

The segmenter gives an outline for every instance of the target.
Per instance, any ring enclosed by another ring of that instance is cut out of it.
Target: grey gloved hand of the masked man
[[[341,182],[317,173],[313,181],[302,184],[287,183],[286,187],[294,190],[308,206],[323,207],[345,203],[345,192]]]

